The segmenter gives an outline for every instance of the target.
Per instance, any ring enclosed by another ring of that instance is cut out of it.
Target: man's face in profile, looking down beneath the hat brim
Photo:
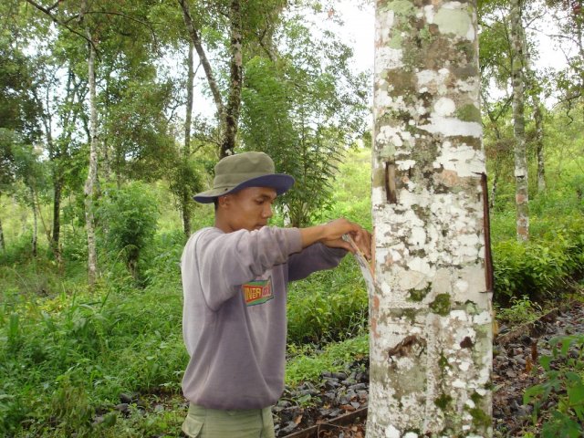
[[[276,190],[268,187],[247,187],[219,198],[219,208],[229,231],[259,230],[272,217]]]

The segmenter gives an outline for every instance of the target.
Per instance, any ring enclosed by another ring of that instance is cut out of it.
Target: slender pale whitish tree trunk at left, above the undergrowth
[[[89,40],[91,34],[86,32]],[[88,282],[93,287],[98,276],[98,255],[95,242],[95,220],[93,215],[93,201],[98,185],[98,110],[96,107],[95,86],[95,57],[96,51],[93,44],[89,44],[88,78],[89,78],[89,173],[85,182],[85,225],[88,234]]]

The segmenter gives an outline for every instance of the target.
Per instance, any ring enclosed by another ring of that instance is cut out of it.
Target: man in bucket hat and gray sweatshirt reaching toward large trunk
[[[308,228],[266,226],[276,196],[294,179],[263,152],[224,158],[213,189],[214,227],[184,247],[183,377],[190,437],[274,437],[270,406],[284,390],[287,282],[339,265],[350,235],[370,255],[370,234],[338,219]]]

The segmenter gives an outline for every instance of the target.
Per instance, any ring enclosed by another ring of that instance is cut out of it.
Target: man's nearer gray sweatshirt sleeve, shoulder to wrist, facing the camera
[[[210,228],[193,236],[183,251],[183,279],[193,278],[209,308],[217,310],[239,287],[272,266],[286,263],[302,249],[297,228],[264,226],[255,231],[223,233]],[[198,277],[198,278],[197,278]],[[200,280],[200,285],[196,281]]]

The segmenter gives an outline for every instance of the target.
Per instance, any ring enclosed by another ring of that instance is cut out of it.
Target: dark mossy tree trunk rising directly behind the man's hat
[[[241,89],[243,80],[242,55],[242,16],[240,0],[232,0],[229,9],[231,33],[230,89],[225,109],[224,139],[221,144],[221,158],[234,153],[239,111],[241,108]]]

